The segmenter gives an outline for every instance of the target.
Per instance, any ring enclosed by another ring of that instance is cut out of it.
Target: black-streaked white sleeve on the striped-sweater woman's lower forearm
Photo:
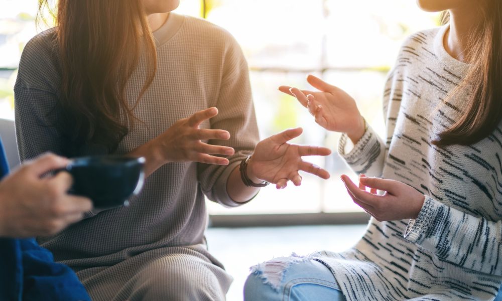
[[[445,261],[502,276],[502,221],[475,217],[426,196],[404,237]]]

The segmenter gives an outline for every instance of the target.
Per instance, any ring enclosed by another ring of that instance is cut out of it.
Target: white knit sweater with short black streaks
[[[340,141],[356,173],[426,195],[416,220],[371,219],[352,249],[315,253],[348,300],[492,300],[502,282],[502,127],[470,146],[429,142],[464,101],[442,104],[469,68],[445,51],[447,29],[419,32],[402,46],[384,93],[387,140],[369,128],[348,154],[346,137]]]

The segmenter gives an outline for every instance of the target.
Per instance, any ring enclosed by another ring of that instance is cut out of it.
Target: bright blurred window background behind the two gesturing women
[[[13,86],[23,47],[45,29],[35,25],[37,4],[37,0],[0,0],[0,118],[14,118]],[[282,191],[267,187],[253,202],[235,209],[208,202],[212,226],[234,228],[210,229],[208,240],[216,257],[224,259],[234,274],[228,298],[239,299],[250,264],[289,255],[285,254],[288,250],[342,250],[357,241],[364,226],[238,227],[361,224],[368,220],[339,179],[343,173],[356,176],[336,155],[339,134],[319,127],[278,86],[311,89],[305,76],[320,76],[352,95],[366,120],[383,135],[381,95],[399,47],[406,36],[438,26],[440,18],[420,11],[412,0],[181,0],[175,12],[205,18],[228,30],[240,43],[250,67],[262,137],[302,126],[304,134],[295,142],[325,145],[335,151],[325,159],[309,158],[331,173],[328,181],[304,175],[301,187],[289,185]],[[323,239],[333,232],[338,233],[334,240]],[[254,239],[261,243],[250,244]],[[229,240],[234,243],[228,244]],[[243,246],[247,253],[242,253]],[[235,253],[240,254],[232,256]]]

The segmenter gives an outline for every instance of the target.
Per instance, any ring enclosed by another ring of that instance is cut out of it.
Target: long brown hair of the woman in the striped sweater
[[[466,50],[470,70],[447,99],[468,96],[460,118],[432,141],[438,146],[474,144],[486,138],[502,119],[502,1],[481,3],[483,22],[472,29]],[[446,12],[443,23],[448,21]]]

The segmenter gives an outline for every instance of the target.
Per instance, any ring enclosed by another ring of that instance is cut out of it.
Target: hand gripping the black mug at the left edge
[[[67,194],[72,177],[61,172],[41,178],[68,163],[64,158],[44,155],[0,182],[0,236],[51,235],[82,219],[92,203]]]

